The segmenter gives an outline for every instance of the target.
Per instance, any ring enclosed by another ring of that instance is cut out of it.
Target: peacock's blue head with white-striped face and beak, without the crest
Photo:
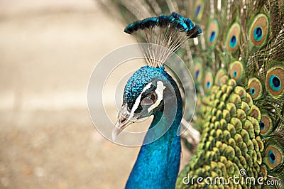
[[[133,122],[151,115],[163,114],[165,103],[176,103],[177,96],[180,96],[178,86],[165,72],[163,65],[160,68],[147,65],[136,70],[124,88],[122,107],[112,134],[113,139]]]

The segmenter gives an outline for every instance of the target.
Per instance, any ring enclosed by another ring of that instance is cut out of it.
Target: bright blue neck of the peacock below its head
[[[126,188],[175,188],[175,181],[180,168],[180,121],[182,119],[182,99],[180,92],[176,94],[178,106],[175,106],[170,114],[175,114],[175,119],[169,120],[163,112],[154,115],[150,129],[153,126],[165,128],[170,126],[168,131],[156,141],[147,144],[148,140],[160,131],[146,134],[144,144],[138,154],[135,165],[126,183]],[[155,127],[157,128],[157,127]],[[163,132],[163,131],[162,131]]]

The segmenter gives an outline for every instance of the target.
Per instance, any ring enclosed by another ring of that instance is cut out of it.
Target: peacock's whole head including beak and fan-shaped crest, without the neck
[[[173,78],[165,72],[163,63],[187,39],[202,33],[200,26],[195,25],[190,18],[175,12],[170,16],[160,15],[133,22],[124,31],[146,39],[146,47],[141,45],[141,48],[148,66],[134,72],[126,84],[113,139],[126,126],[144,117],[157,116],[162,112],[168,125],[176,115],[180,117],[180,113],[176,112],[182,109],[180,91]]]

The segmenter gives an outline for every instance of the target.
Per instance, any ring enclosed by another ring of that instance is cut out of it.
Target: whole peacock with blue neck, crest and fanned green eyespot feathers
[[[126,188],[283,188],[284,1],[102,4],[130,23],[124,32],[148,44],[147,65],[126,83],[113,133],[153,115]],[[191,125],[200,133],[181,171],[181,140],[195,136],[178,134],[190,114],[183,111],[176,75],[165,65],[173,53],[195,82]]]

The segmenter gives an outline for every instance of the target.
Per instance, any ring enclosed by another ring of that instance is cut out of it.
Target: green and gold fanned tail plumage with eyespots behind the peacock
[[[185,178],[191,181],[188,175],[228,180],[240,176],[241,170],[246,171],[241,178],[279,180],[282,185],[266,186],[283,188],[284,1],[104,0],[102,4],[118,10],[128,24],[145,18],[155,22],[161,14],[178,12],[203,31],[192,41],[182,41],[177,52],[195,80],[192,125],[201,135],[176,188],[265,187],[257,182],[185,184]],[[126,27],[126,33],[132,32]],[[137,36],[149,42],[143,33]]]

